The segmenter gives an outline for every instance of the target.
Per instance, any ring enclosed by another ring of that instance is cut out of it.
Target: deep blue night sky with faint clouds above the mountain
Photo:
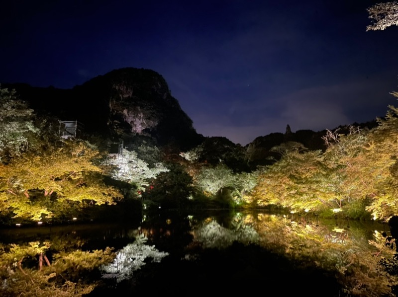
[[[0,82],[71,88],[152,69],[204,136],[333,129],[397,105],[398,28],[369,0],[10,0]]]

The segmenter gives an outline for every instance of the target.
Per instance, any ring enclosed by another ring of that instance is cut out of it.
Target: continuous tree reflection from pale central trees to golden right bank
[[[336,277],[345,293],[354,296],[389,296],[398,278],[385,272],[379,262],[392,259],[394,249],[386,239],[352,224],[347,228],[308,218],[276,215],[237,214],[228,228],[208,218],[193,230],[194,241],[204,248],[224,249],[234,241],[255,243],[275,255],[300,263],[302,269],[321,269]],[[270,269],[270,267],[264,267]],[[272,268],[271,268],[272,269]]]

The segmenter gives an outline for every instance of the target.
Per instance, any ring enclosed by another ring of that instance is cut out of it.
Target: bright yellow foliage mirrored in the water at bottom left
[[[43,269],[22,268],[24,258],[40,258],[50,248],[49,242],[28,242],[0,247],[0,294],[3,296],[72,297],[89,294],[96,282],[88,271],[99,271],[114,258],[110,248],[93,251],[60,252],[48,259]]]

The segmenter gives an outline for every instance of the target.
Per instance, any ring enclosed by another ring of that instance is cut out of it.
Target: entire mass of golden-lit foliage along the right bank
[[[398,212],[397,115],[390,106],[370,131],[353,126],[344,128],[346,134],[327,131],[324,152],[284,149],[282,158],[259,175],[252,202],[298,212],[327,208],[351,218],[368,212],[388,220]]]

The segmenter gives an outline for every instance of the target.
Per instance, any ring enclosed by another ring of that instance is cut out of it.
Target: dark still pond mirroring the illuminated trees
[[[389,234],[387,224],[373,221],[266,211],[160,212],[134,224],[75,222],[0,230],[3,258],[7,246],[31,248],[32,242],[42,247],[41,259],[50,265],[77,250],[111,247],[112,257],[90,275],[95,287],[87,296],[396,296],[395,247]],[[37,273],[38,254],[15,257],[15,263],[20,261],[11,269],[14,275]],[[75,270],[84,266],[82,257]],[[0,288],[12,292],[13,284],[6,280],[3,276]],[[79,276],[76,282],[87,279]]]

